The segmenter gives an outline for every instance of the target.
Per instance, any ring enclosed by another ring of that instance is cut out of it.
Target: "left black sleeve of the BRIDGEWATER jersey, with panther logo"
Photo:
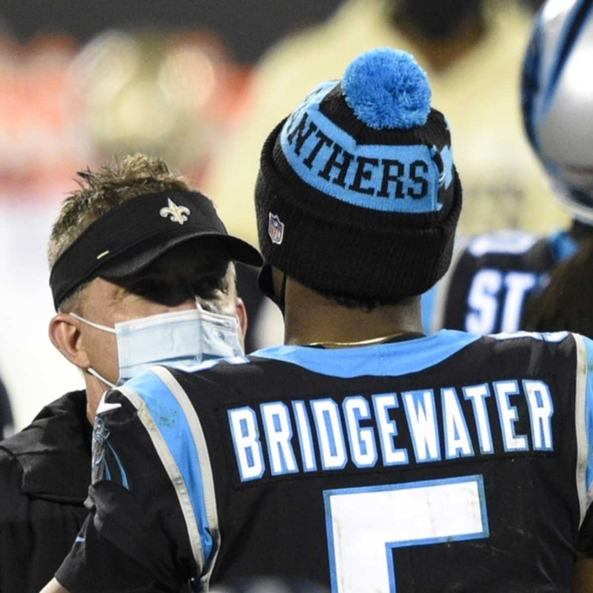
[[[136,409],[117,401],[95,421],[90,516],[56,578],[72,593],[178,591],[198,570],[176,490]]]

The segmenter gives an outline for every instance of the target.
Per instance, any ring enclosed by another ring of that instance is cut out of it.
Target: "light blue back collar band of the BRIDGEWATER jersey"
[[[416,340],[375,346],[335,349],[273,346],[257,350],[252,356],[291,362],[331,377],[399,377],[435,366],[480,337],[464,331],[441,330]]]

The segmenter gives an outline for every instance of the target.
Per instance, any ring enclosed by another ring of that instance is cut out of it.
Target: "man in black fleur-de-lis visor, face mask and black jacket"
[[[232,260],[259,253],[227,235],[208,198],[158,158],[79,173],[48,259],[53,345],[86,388],[0,444],[0,591],[39,591],[88,514],[91,440],[103,392],[157,362],[243,353],[246,313]],[[40,388],[43,388],[40,385]]]

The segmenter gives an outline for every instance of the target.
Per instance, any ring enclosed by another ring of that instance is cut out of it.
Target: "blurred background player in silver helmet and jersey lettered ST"
[[[472,238],[423,298],[428,331],[517,331],[528,295],[593,238],[592,51],[593,0],[549,0],[535,21],[522,74],[527,137],[572,225],[546,237],[499,231]]]

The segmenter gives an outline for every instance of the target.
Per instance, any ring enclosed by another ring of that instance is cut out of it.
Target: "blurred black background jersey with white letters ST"
[[[423,295],[426,331],[521,329],[528,295],[546,282],[554,264],[575,251],[576,241],[566,231],[547,237],[497,231],[472,238],[455,253],[444,279]]]

